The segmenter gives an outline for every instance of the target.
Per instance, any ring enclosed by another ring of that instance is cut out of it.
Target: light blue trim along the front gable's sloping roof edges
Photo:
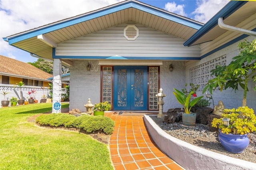
[[[57,29],[68,27],[70,25],[74,25],[74,24],[81,23],[81,22],[84,22],[84,21],[92,20],[94,18],[105,16],[105,15],[108,15],[108,14],[111,14],[111,13],[114,13],[114,12],[117,12],[117,11],[120,11],[120,10],[124,10],[124,9],[127,9],[127,8],[135,8],[135,9],[138,9],[138,10],[142,10],[144,12],[148,12],[150,14],[165,18],[167,20],[175,21],[177,23],[180,23],[182,25],[186,25],[188,27],[192,27],[194,29],[200,29],[202,27],[202,25],[199,24],[199,23],[192,22],[192,21],[189,21],[189,20],[185,20],[184,18],[179,18],[177,16],[168,14],[166,12],[162,12],[160,10],[151,8],[149,6],[139,4],[139,3],[134,2],[134,1],[128,1],[128,2],[124,1],[124,3],[122,3],[122,4],[118,4],[116,6],[106,8],[106,9],[100,10],[98,12],[94,12],[92,14],[87,14],[85,16],[80,16],[78,18],[70,19],[68,21],[63,21],[63,22],[60,22],[60,23],[56,23],[54,25],[45,26],[43,28],[40,28],[40,29],[37,29],[37,30],[34,30],[34,31],[29,31],[28,33],[24,33],[22,35],[17,35],[15,37],[10,37],[8,39],[4,38],[4,39],[6,39],[9,42],[9,44],[11,45],[13,43],[16,43],[16,42],[19,42],[19,41],[22,41],[22,40],[25,40],[25,39],[29,39],[31,37],[36,37],[37,35],[45,34],[45,33],[51,32],[51,31],[55,31]]]

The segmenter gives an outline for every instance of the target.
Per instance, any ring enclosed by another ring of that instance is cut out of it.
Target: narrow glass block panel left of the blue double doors
[[[112,67],[102,67],[102,102],[112,101]]]

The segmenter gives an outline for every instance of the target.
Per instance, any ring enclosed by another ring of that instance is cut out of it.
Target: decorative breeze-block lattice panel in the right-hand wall
[[[226,65],[226,55],[222,55],[216,59],[190,68],[190,83],[195,85],[199,84],[200,87],[198,88],[198,91],[202,91],[208,80],[214,78],[214,76],[211,76],[210,71],[213,70],[216,65]]]

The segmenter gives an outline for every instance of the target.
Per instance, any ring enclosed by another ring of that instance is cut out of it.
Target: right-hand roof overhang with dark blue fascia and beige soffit
[[[218,18],[223,18],[223,22],[227,25],[236,26],[242,21],[253,17],[256,13],[256,3],[248,1],[230,1],[222,8],[214,17],[204,24],[194,35],[192,35],[184,46],[192,46],[208,41],[212,41],[220,35],[227,32],[227,29],[222,29],[218,25]],[[254,24],[239,25],[240,28],[255,30],[255,16],[253,17]],[[240,33],[238,36],[242,35]],[[241,39],[244,37],[241,37]]]

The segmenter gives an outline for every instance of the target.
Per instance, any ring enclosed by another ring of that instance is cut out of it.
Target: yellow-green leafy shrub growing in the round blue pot
[[[222,119],[229,118],[229,125],[224,126]],[[251,132],[256,132],[256,116],[254,110],[245,107],[238,107],[237,109],[224,109],[221,118],[214,118],[212,120],[212,127],[221,130],[222,133],[230,133],[235,135],[244,135]]]

